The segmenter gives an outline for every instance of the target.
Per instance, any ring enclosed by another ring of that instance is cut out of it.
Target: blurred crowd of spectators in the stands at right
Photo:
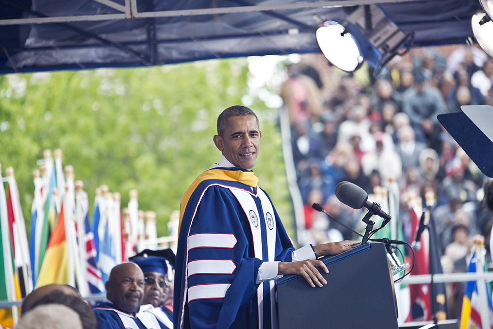
[[[334,196],[338,183],[357,184],[369,194],[392,180],[400,188],[404,236],[410,237],[408,199],[432,190],[432,215],[439,232],[444,271],[466,271],[471,237],[486,237],[493,217],[483,206],[477,166],[437,120],[462,105],[493,105],[493,61],[476,47],[458,46],[448,57],[440,49],[392,60],[370,83],[342,74],[322,93],[319,72],[290,64],[281,97],[289,113],[298,186],[306,229],[314,243],[352,239],[352,232],[311,209],[322,204],[332,217],[356,228],[361,219]],[[327,70],[333,68],[327,67]]]

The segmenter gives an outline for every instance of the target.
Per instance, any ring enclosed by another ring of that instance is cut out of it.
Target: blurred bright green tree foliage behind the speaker
[[[0,76],[0,163],[15,170],[27,225],[36,160],[46,148],[61,148],[64,166],[74,167],[90,200],[107,184],[125,207],[136,188],[139,208],[156,211],[158,235],[167,235],[185,189],[219,160],[216,118],[242,104],[247,73],[246,60],[234,59]],[[262,102],[251,108],[263,137],[254,171],[292,235],[279,128],[263,119],[272,110]]]

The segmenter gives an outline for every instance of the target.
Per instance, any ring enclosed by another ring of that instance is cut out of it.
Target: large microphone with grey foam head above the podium
[[[382,207],[376,203],[371,203],[368,201],[368,193],[364,191],[361,187],[350,182],[341,182],[337,184],[335,193],[339,201],[345,205],[350,206],[353,209],[361,209],[363,207],[367,208],[372,215],[377,215],[384,219],[382,226],[387,225],[389,220],[392,218]]]

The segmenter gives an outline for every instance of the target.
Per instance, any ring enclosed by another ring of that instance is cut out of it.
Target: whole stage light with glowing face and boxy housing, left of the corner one
[[[413,38],[414,33],[404,34],[374,4],[357,7],[342,23],[326,21],[317,29],[318,46],[330,63],[352,72],[366,60],[374,75],[400,49],[409,50]]]

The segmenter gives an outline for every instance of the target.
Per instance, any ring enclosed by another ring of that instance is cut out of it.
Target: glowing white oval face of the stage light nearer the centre
[[[356,39],[337,22],[323,23],[317,29],[317,42],[325,58],[343,71],[353,72],[363,63],[363,53]]]

